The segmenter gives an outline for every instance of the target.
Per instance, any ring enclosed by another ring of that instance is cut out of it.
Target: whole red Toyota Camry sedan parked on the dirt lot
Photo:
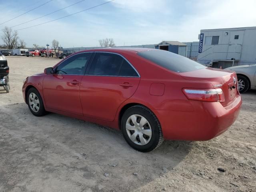
[[[233,71],[207,68],[164,50],[76,52],[24,80],[32,114],[55,112],[120,129],[136,150],[164,139],[210,140],[230,127],[242,104]]]

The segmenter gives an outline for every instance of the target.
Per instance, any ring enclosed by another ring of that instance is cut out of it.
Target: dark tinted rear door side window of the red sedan
[[[96,53],[89,75],[138,77],[134,68],[120,55]]]

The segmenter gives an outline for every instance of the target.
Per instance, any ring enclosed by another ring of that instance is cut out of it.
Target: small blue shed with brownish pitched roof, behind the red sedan
[[[162,41],[155,45],[156,49],[170,51],[184,57],[187,56],[187,45],[178,41]]]

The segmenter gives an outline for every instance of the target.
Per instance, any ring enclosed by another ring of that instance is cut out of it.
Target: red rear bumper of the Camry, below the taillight
[[[194,107],[193,112],[152,110],[160,121],[165,139],[210,140],[228,130],[242,105],[239,94],[227,107],[220,102],[190,102]]]

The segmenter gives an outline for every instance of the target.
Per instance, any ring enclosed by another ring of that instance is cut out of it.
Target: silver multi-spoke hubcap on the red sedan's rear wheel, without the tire
[[[132,142],[146,145],[152,138],[152,129],[148,120],[138,114],[131,115],[126,121],[126,132]]]

